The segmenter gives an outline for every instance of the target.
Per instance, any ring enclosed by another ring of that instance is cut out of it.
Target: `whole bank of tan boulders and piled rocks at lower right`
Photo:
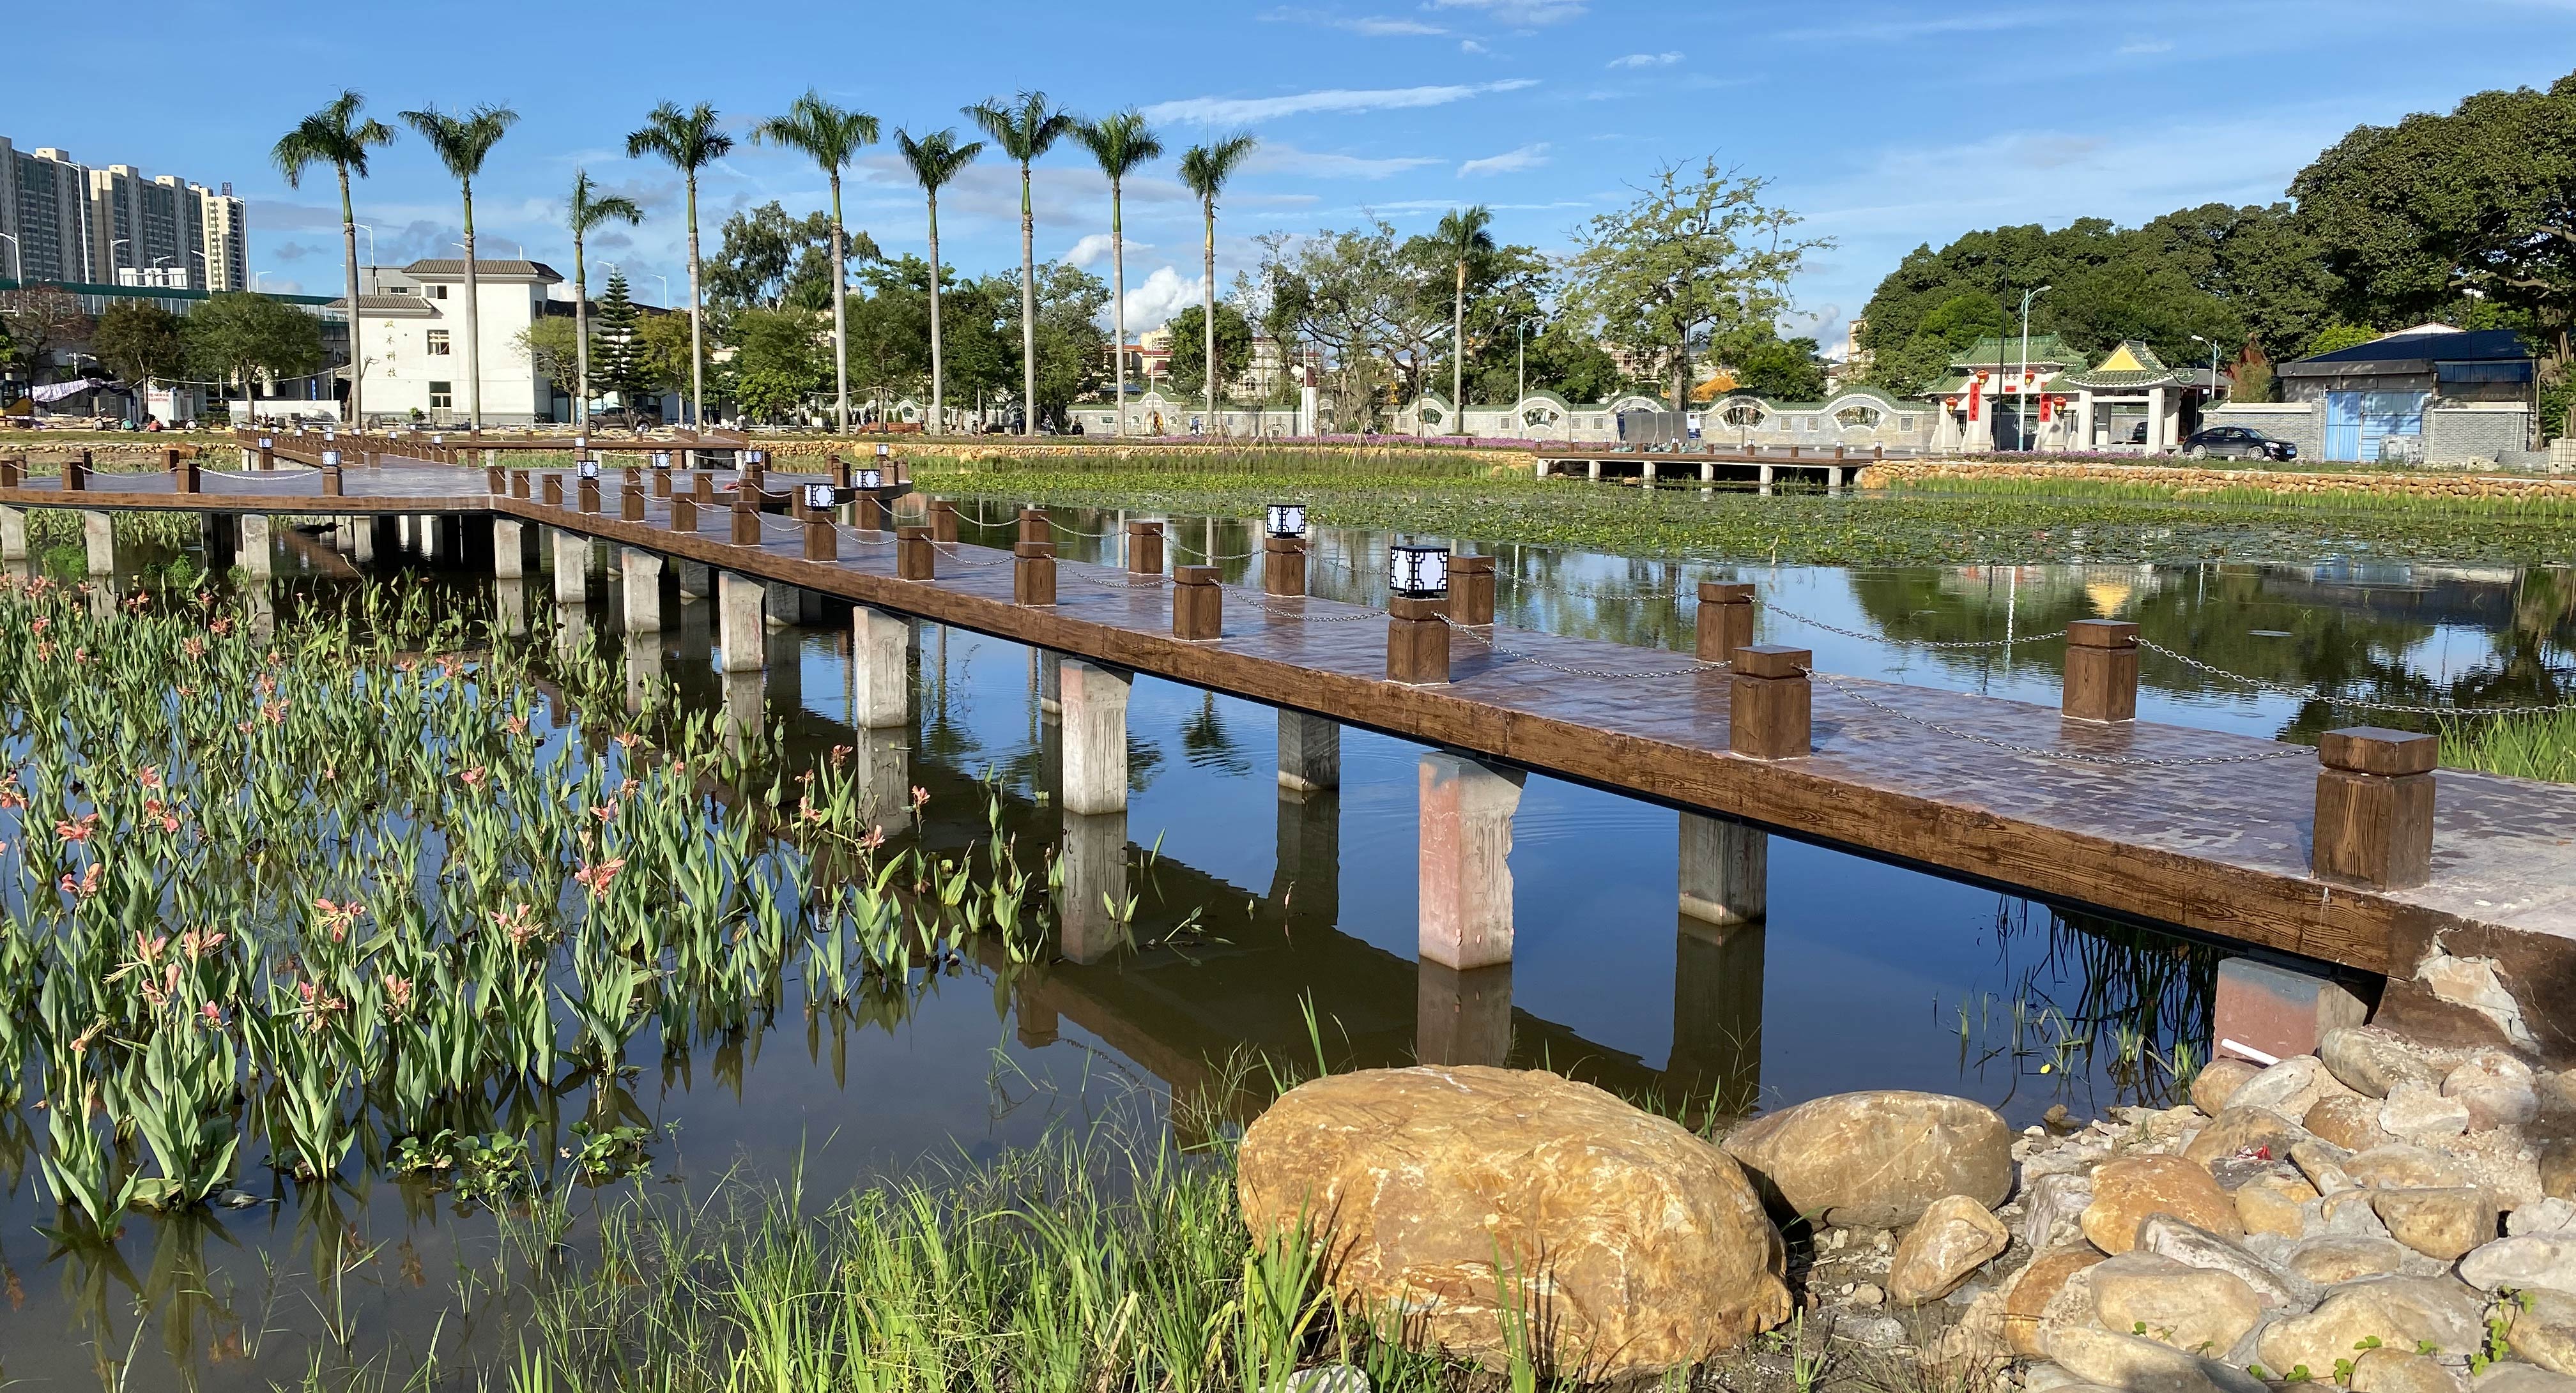
[[[1865,1092],[1705,1143],[1553,1074],[1347,1074],[1247,1130],[1239,1192],[1347,1311],[1489,1367],[1517,1326],[1646,1375],[1806,1308],[1971,1388],[2576,1393],[2576,1074],[2367,1025],[2022,1136]]]

